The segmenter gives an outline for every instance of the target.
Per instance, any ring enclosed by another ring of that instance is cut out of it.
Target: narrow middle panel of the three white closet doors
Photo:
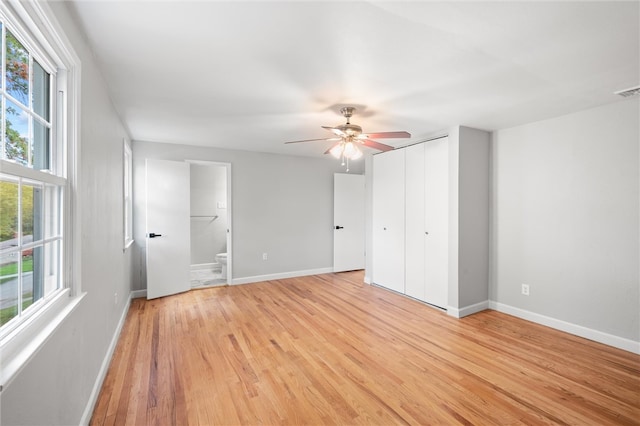
[[[405,148],[405,293],[425,300],[424,144]]]

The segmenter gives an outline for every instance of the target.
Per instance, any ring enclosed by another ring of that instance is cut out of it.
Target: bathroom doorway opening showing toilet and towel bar
[[[231,164],[188,160],[191,288],[230,284]]]

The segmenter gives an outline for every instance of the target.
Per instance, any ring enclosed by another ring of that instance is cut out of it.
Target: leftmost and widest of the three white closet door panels
[[[404,150],[373,157],[373,282],[404,293]]]

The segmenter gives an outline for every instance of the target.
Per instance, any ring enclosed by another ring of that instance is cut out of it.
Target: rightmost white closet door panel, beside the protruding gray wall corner
[[[447,307],[449,288],[449,139],[424,144],[425,298]]]

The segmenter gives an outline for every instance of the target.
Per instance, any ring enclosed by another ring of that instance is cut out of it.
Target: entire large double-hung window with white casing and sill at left
[[[79,60],[46,4],[0,3],[0,390],[82,299]]]

